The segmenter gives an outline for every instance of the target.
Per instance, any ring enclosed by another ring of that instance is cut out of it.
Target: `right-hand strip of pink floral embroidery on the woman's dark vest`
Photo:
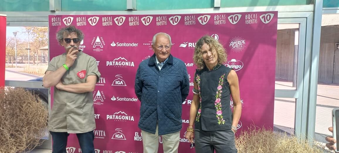
[[[217,94],[215,96],[215,109],[216,109],[216,117],[218,119],[218,124],[225,124],[225,120],[224,117],[222,116],[222,111],[221,111],[221,102],[220,102],[220,98],[221,98],[221,93],[222,93],[222,85],[224,84],[224,78],[225,78],[225,74],[223,74],[220,78],[219,78],[219,83],[218,83],[218,90],[217,90]]]

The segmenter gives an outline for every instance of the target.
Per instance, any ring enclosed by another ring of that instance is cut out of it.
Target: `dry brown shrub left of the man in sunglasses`
[[[0,153],[20,153],[41,145],[47,110],[22,88],[0,89]]]

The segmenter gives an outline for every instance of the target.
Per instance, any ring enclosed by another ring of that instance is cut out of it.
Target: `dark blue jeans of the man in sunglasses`
[[[52,132],[53,146],[52,153],[66,153],[67,132]],[[95,153],[94,152],[94,132],[89,131],[86,133],[77,133],[79,145],[82,153]]]

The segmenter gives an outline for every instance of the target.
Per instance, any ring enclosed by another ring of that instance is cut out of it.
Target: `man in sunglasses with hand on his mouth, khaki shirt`
[[[94,153],[95,119],[92,92],[100,73],[96,59],[79,49],[83,33],[74,26],[61,28],[57,40],[65,53],[54,57],[42,79],[54,86],[53,107],[48,120],[53,153],[65,153],[69,133],[76,133],[82,153]]]

